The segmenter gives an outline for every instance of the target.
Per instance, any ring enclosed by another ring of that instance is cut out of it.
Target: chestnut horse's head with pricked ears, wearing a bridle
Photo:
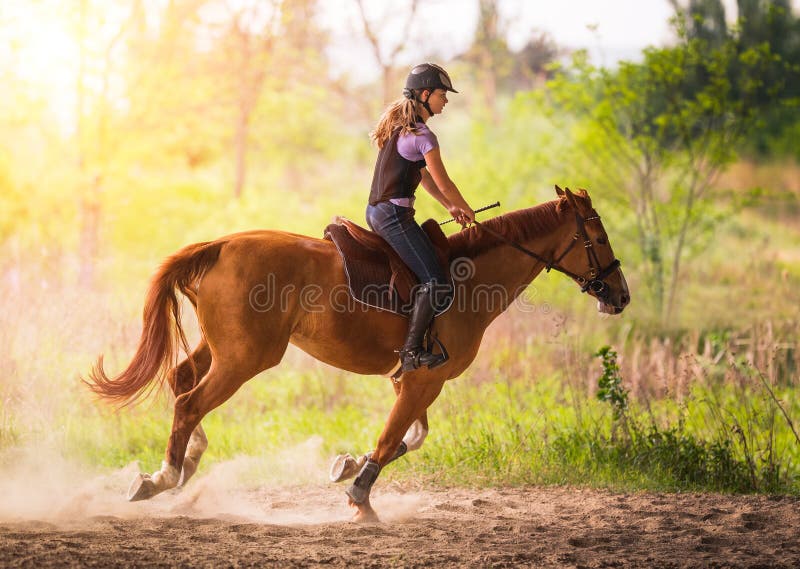
[[[631,300],[628,283],[614,256],[600,216],[586,190],[573,194],[556,186],[564,206],[574,212],[574,240],[556,260],[559,268],[597,299],[597,310],[619,314]],[[569,217],[569,214],[567,214]]]

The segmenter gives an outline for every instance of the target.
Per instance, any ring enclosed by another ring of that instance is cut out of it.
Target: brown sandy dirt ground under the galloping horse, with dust
[[[212,488],[127,504],[95,484],[16,519],[0,507],[0,565],[800,566],[796,498],[378,484],[382,522],[358,525],[342,486]]]

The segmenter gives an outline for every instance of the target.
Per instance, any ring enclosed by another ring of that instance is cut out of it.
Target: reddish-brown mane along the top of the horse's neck
[[[524,243],[534,237],[549,233],[561,225],[561,212],[566,205],[565,202],[564,198],[560,198],[534,207],[512,211],[487,219],[483,225],[509,240]],[[481,228],[477,226],[454,233],[447,240],[450,244],[451,257],[471,259],[505,243],[488,231],[481,231]]]

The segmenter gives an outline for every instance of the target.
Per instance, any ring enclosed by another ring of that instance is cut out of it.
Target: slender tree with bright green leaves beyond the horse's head
[[[712,48],[685,39],[648,48],[642,63],[616,71],[593,67],[583,54],[548,84],[555,108],[579,118],[576,152],[592,187],[632,214],[642,279],[665,324],[682,263],[715,222],[713,182],[756,118],[752,102],[770,58],[768,46],[740,52],[731,41]],[[742,72],[732,78],[733,65]]]

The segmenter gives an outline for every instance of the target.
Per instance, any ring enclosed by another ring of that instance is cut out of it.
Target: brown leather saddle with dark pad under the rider
[[[423,223],[422,229],[433,243],[442,267],[447,269],[450,261],[447,236],[433,219]],[[342,257],[353,298],[368,306],[408,316],[411,292],[419,281],[383,237],[345,217],[335,217],[325,228],[324,237],[333,242]],[[449,273],[445,270],[448,280]]]

